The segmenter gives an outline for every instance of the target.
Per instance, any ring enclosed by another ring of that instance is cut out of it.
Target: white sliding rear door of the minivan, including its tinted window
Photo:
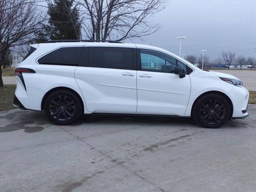
[[[75,71],[90,112],[136,113],[135,48],[86,46]]]

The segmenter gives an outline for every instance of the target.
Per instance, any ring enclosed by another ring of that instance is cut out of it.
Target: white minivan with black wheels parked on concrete
[[[249,92],[238,78],[201,70],[161,48],[96,40],[30,46],[15,70],[14,106],[44,110],[56,124],[82,114],[146,114],[218,128],[249,115]]]

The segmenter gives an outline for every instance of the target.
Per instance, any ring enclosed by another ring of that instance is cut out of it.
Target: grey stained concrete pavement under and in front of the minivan
[[[219,129],[189,118],[1,112],[1,192],[255,192],[256,105]]]

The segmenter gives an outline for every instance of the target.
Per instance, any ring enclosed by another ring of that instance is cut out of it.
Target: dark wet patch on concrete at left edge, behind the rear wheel
[[[32,124],[33,121],[22,121],[20,123],[8,124],[4,127],[0,127],[0,132],[12,132],[20,129],[24,129],[26,133],[35,133],[44,130],[42,126],[26,126],[27,124]]]

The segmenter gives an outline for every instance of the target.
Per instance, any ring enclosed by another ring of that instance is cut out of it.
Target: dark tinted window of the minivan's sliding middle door
[[[132,70],[132,48],[90,47],[88,66]]]

